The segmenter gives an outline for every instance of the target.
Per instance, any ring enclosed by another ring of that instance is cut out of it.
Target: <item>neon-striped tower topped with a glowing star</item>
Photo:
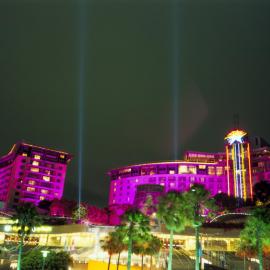
[[[228,195],[252,199],[250,143],[244,130],[235,129],[226,137],[226,174]]]

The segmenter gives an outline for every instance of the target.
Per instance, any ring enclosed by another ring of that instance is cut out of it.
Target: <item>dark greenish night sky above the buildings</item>
[[[91,204],[106,205],[109,169],[173,158],[174,80],[179,158],[222,150],[235,113],[270,140],[269,29],[267,0],[0,0],[0,153],[20,140],[72,153],[76,199],[81,72]]]

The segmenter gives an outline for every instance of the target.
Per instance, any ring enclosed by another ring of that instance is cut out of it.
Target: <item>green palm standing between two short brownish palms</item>
[[[143,241],[150,232],[149,218],[137,209],[128,210],[122,218],[119,230],[125,235],[124,242],[128,245],[127,270],[131,268],[131,254],[134,241]]]

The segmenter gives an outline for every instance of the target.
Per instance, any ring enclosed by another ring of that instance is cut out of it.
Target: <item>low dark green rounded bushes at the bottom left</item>
[[[46,270],[66,270],[72,260],[68,253],[50,251],[44,260]],[[22,270],[41,270],[43,257],[40,250],[31,250],[22,259]]]

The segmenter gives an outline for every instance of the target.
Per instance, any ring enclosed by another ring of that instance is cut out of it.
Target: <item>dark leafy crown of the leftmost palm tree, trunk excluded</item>
[[[22,237],[30,234],[34,227],[40,226],[42,223],[36,207],[31,203],[18,205],[12,219],[15,221],[15,225],[20,227],[18,234]]]

